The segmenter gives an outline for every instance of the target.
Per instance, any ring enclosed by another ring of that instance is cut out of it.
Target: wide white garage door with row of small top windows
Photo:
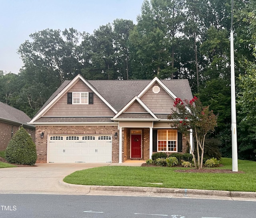
[[[49,163],[112,162],[111,135],[49,135]]]

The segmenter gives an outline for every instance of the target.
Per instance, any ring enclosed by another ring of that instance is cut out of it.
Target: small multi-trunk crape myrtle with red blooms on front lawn
[[[207,133],[213,132],[217,126],[217,116],[209,110],[209,107],[203,107],[201,101],[195,96],[190,101],[184,100],[184,102],[176,98],[168,119],[172,120],[173,127],[186,136],[194,164],[196,168],[201,169],[205,138]],[[190,143],[190,130],[196,137],[196,155],[194,154],[195,147]]]

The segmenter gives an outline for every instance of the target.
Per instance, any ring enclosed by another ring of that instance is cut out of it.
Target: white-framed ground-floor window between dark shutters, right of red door
[[[157,134],[157,151],[177,152],[178,132],[176,129],[161,129]]]

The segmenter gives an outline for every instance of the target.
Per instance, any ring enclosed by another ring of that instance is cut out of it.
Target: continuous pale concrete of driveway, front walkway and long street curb
[[[143,161],[125,163],[46,163],[32,167],[0,168],[0,194],[68,194],[114,196],[162,196],[179,198],[211,198],[254,200],[256,192],[229,192],[177,188],[148,188],[124,186],[84,186],[67,184],[63,178],[77,170],[98,166],[141,166]]]

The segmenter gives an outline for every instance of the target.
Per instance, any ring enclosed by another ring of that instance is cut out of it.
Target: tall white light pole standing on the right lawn
[[[230,28],[230,67],[231,67],[231,135],[232,135],[232,171],[238,171],[237,157],[237,135],[236,135],[236,89],[235,89],[235,67],[234,67],[234,34],[233,34],[233,8],[231,9]]]

